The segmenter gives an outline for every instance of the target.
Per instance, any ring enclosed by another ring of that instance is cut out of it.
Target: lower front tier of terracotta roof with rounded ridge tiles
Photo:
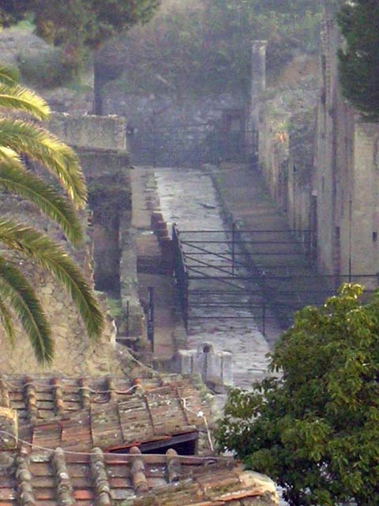
[[[269,505],[275,493],[271,480],[242,472],[231,459],[178,457],[174,450],[142,455],[133,447],[125,455],[94,448],[79,455],[57,448],[28,455],[22,448],[0,469],[0,506],[222,506],[264,494]]]

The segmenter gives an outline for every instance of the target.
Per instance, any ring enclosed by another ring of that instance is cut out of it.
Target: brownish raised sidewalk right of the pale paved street
[[[238,223],[241,229],[258,231],[254,236],[243,233],[244,241],[256,241],[259,237],[269,242],[273,235],[265,231],[288,230],[288,233],[280,232],[278,242],[282,241],[281,244],[273,241],[244,246],[253,267],[257,267],[256,272],[264,272],[266,279],[270,279],[265,282],[267,299],[282,326],[286,327],[295,310],[321,304],[327,291],[333,292],[333,288],[325,286],[322,277],[309,265],[305,250],[294,243],[286,216],[278,210],[258,170],[242,163],[223,163],[209,170],[227,221]]]

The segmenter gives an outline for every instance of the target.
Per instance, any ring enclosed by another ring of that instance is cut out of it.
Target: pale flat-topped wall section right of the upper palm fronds
[[[119,116],[71,116],[53,112],[46,127],[77,148],[126,150],[126,119]]]

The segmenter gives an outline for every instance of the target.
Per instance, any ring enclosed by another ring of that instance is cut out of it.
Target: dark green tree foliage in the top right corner
[[[338,16],[345,37],[338,53],[344,96],[365,117],[379,119],[379,3],[344,2]]]

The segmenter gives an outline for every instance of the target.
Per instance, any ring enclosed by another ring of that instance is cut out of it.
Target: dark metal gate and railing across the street
[[[233,224],[229,230],[179,232],[174,226],[173,245],[186,329],[189,319],[253,319],[265,333],[267,320],[278,319],[286,327],[294,312],[322,304],[343,282],[368,285],[366,293],[379,285],[376,273],[314,272],[310,230],[244,230]]]

